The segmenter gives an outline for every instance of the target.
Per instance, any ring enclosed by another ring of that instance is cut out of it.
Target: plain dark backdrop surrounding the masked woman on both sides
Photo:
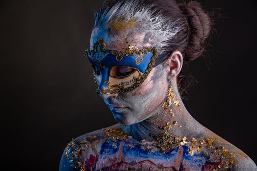
[[[103,0],[1,0],[1,167],[57,170],[66,144],[115,124],[95,93],[89,62],[94,11]],[[256,0],[201,0],[215,19],[206,58],[184,103],[201,124],[255,162]],[[221,10],[219,10],[221,8]],[[217,16],[217,15],[216,15]]]

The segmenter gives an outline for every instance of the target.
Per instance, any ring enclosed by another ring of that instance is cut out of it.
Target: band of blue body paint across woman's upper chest
[[[124,145],[121,147],[121,143]],[[173,163],[180,160],[180,163],[183,163],[183,167],[191,168],[201,171],[206,161],[209,159],[209,156],[204,154],[195,153],[191,156],[188,153],[187,146],[181,146],[180,148],[172,149],[166,153],[162,153],[161,150],[149,150],[144,148],[144,146],[139,144],[134,144],[132,141],[117,141],[117,148],[112,146],[113,141],[105,142],[101,146],[100,158],[102,162],[107,161],[111,158],[120,158],[124,157],[122,161],[115,161],[112,163],[113,166],[126,166],[131,165],[131,163],[137,163],[140,165],[140,162],[149,161],[152,165],[162,164],[165,168],[170,168],[173,166]],[[133,145],[134,144],[134,145]],[[131,147],[132,145],[132,147]],[[111,169],[110,166],[104,165],[105,170]],[[117,169],[117,168],[116,168]],[[119,169],[119,168],[118,168]]]

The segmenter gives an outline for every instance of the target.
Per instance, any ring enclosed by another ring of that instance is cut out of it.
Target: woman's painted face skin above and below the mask
[[[91,49],[96,39],[102,38],[106,49],[125,50],[129,48],[142,49],[153,47],[148,34],[125,30],[110,34],[101,28],[95,28],[91,35]],[[124,125],[131,125],[151,117],[155,108],[163,104],[168,90],[168,67],[165,64],[155,66],[147,79],[137,88],[117,94],[100,94],[105,104],[110,108],[115,120]],[[112,73],[115,75],[115,73]],[[118,74],[118,73],[117,73]],[[101,75],[96,77],[96,82]]]

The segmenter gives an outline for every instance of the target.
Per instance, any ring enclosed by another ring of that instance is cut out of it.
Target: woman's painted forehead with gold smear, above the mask
[[[127,50],[128,48],[142,49],[153,46],[150,34],[142,30],[141,24],[133,20],[110,21],[94,27],[91,34],[90,48],[102,38],[107,49]]]

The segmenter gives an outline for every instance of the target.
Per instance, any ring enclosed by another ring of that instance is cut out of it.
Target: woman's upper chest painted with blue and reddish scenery
[[[191,155],[187,146],[163,153],[151,144],[118,141],[103,143],[100,152],[86,163],[103,171],[203,171],[208,158],[201,153]]]

